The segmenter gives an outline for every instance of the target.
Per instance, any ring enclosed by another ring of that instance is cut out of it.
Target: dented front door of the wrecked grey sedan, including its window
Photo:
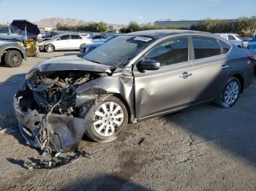
[[[136,117],[165,113],[192,101],[193,75],[187,36],[160,42],[145,59],[159,61],[160,69],[134,71]]]

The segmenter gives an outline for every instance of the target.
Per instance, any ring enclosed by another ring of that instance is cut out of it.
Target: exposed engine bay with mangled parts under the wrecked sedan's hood
[[[75,108],[75,90],[79,85],[102,76],[108,74],[89,71],[34,71],[27,77],[27,85],[40,112],[80,117],[79,108]]]

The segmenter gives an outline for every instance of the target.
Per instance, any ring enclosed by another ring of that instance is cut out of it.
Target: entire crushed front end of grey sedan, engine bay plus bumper
[[[76,90],[102,75],[107,74],[89,71],[30,72],[14,97],[15,114],[26,144],[48,153],[78,149],[92,121],[84,120],[84,111],[90,103],[76,106]]]

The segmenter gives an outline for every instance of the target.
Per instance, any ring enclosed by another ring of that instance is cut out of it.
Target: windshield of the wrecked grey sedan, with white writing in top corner
[[[154,41],[145,36],[118,36],[82,58],[87,61],[102,63],[108,66],[121,66],[138,55],[148,44]]]

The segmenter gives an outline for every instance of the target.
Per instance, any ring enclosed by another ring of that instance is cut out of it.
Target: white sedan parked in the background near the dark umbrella
[[[39,50],[53,52],[55,50],[79,50],[83,44],[91,44],[93,41],[80,34],[59,34],[50,40],[39,42]]]

